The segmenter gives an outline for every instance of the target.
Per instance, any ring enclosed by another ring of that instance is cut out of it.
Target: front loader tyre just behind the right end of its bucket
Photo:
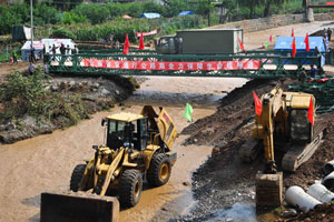
[[[120,178],[119,201],[121,206],[135,206],[141,195],[143,175],[138,170],[126,170]]]

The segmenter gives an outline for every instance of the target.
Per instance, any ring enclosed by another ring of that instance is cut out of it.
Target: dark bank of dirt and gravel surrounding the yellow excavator
[[[230,208],[237,202],[254,205],[255,175],[264,169],[265,159],[259,157],[252,164],[242,163],[239,147],[252,137],[254,122],[254,90],[257,95],[269,92],[279,83],[283,89],[294,80],[252,80],[244,87],[235,89],[222,100],[217,112],[200,119],[184,129],[189,134],[185,144],[215,145],[212,158],[193,174],[193,191],[198,204],[183,221],[205,221],[215,218],[215,212]],[[323,145],[313,158],[303,164],[294,174],[285,174],[284,186],[308,186],[317,180],[321,167],[334,159],[332,152],[334,135],[334,113],[317,115],[317,128],[328,127]],[[318,131],[316,129],[316,131]],[[334,213],[333,213],[334,214]]]

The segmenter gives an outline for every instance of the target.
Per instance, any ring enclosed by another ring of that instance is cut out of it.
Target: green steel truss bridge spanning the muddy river
[[[52,73],[90,75],[166,75],[273,79],[297,77],[321,57],[291,51],[248,51],[239,54],[195,56],[157,54],[151,50],[81,50],[79,54],[47,54],[45,62]]]

